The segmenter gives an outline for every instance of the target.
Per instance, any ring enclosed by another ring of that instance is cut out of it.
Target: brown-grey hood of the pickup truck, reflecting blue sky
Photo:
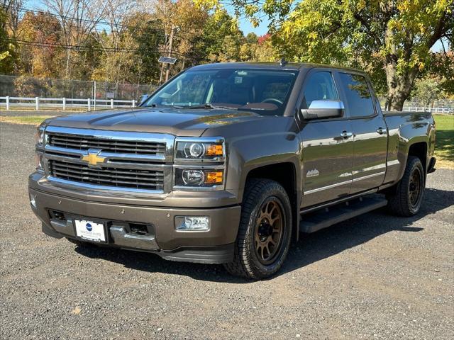
[[[260,118],[256,113],[223,109],[129,108],[65,115],[50,119],[47,125],[200,137],[208,128]]]

